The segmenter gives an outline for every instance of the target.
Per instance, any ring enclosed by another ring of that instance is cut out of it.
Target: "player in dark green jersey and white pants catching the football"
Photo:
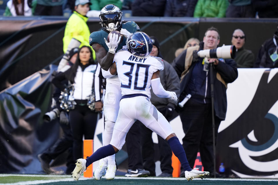
[[[113,4],[108,4],[103,7],[100,11],[99,18],[101,20],[100,23],[103,29],[91,33],[89,37],[89,44],[96,52],[96,59],[102,68],[102,73],[99,73],[99,77],[103,76],[106,78],[106,90],[103,101],[105,128],[102,138],[103,145],[109,145],[119,111],[121,88],[118,76],[114,75],[109,78],[106,76],[106,73],[113,62],[115,51],[120,50],[122,46],[125,45],[126,38],[131,33],[139,31],[140,28],[133,21],[122,23],[122,12],[120,8]],[[107,47],[103,38],[107,38],[108,34],[114,30],[120,31],[121,34],[125,36],[125,38],[123,38],[123,42],[119,45],[116,43],[116,49],[110,49]],[[102,107],[101,102],[96,102],[96,105],[97,104],[100,105],[100,108]],[[94,171],[94,177],[96,180],[100,180],[102,178],[106,168],[107,171],[105,178],[108,180],[114,179],[116,173],[115,155],[109,156],[99,161],[99,165]]]

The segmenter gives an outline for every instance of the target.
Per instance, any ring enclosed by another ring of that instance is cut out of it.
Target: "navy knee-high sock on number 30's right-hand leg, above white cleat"
[[[182,165],[184,171],[191,171],[192,169],[188,163],[188,160],[185,155],[185,151],[182,147],[182,144],[180,144],[179,139],[176,136],[171,137],[168,140],[168,143],[175,156],[180,160],[180,164]]]

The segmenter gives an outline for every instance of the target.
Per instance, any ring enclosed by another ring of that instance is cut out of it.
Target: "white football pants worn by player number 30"
[[[127,132],[136,120],[141,121],[164,139],[174,133],[170,123],[151,104],[149,98],[144,96],[124,98],[120,101],[120,110],[110,144],[119,150],[122,149]]]

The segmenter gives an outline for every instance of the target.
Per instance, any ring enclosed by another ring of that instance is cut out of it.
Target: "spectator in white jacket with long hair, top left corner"
[[[32,16],[36,8],[37,0],[28,5],[27,0],[9,0],[5,9],[4,16]]]

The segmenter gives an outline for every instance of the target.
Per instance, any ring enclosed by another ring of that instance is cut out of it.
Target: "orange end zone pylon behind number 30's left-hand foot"
[[[93,154],[93,140],[85,139],[83,140],[83,159],[87,159],[87,157]],[[84,177],[93,177],[93,164],[87,167],[87,170],[84,171]]]

